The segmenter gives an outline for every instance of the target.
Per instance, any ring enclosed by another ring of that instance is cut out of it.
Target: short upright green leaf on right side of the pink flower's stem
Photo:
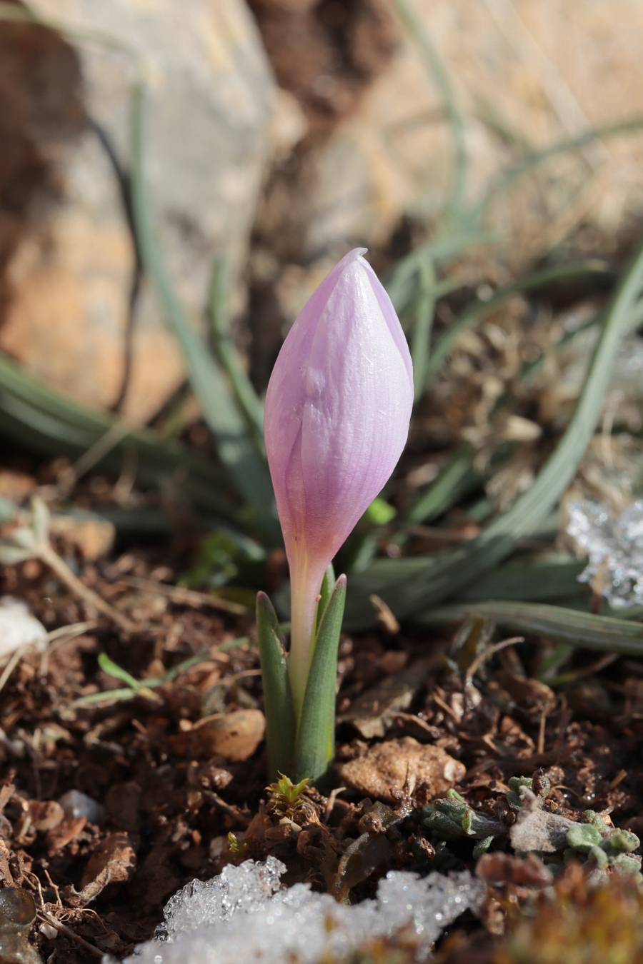
[[[295,780],[319,783],[335,754],[337,648],[346,600],[346,576],[339,576],[317,633],[299,722]]]

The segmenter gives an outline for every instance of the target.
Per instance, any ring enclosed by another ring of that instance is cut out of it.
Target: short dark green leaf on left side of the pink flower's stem
[[[265,593],[256,594],[256,638],[263,680],[266,714],[268,775],[291,774],[295,755],[295,710],[285,656],[285,643],[277,614]]]

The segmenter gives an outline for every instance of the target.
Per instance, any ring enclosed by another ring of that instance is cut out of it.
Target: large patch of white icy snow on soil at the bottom
[[[316,964],[344,960],[378,938],[404,931],[417,960],[425,960],[442,929],[479,905],[484,886],[467,871],[419,878],[391,870],[377,897],[355,906],[308,884],[278,890],[283,864],[247,860],[202,883],[194,881],[166,907],[167,940],[149,941],[130,964],[256,964],[292,960]]]

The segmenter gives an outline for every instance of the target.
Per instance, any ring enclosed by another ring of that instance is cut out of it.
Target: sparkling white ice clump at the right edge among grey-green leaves
[[[581,582],[610,605],[643,605],[643,499],[620,516],[603,502],[573,502],[567,532],[588,556]]]

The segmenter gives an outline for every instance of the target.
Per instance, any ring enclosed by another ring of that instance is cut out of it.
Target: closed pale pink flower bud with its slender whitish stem
[[[356,248],[288,333],[268,385],[265,441],[290,566],[296,715],[324,573],[400,457],[413,368],[388,294]]]

